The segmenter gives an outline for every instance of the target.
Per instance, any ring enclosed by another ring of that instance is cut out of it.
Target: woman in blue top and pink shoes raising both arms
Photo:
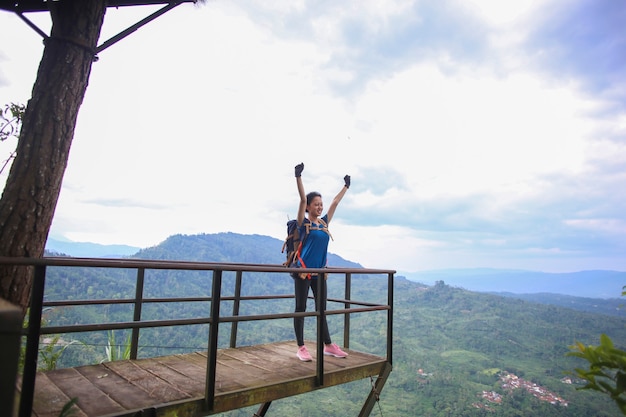
[[[303,237],[302,246],[297,254],[296,266],[299,268],[324,268],[326,267],[328,241],[330,239],[328,223],[332,220],[337,205],[346,194],[346,191],[348,191],[348,188],[350,188],[350,176],[346,175],[344,177],[345,185],[333,199],[332,203],[330,203],[328,212],[322,216],[324,205],[320,193],[311,192],[308,195],[304,193],[304,185],[302,185],[303,170],[303,163],[296,165],[296,184],[298,185],[298,194],[300,195],[297,222],[300,236]],[[308,216],[306,216],[307,214]],[[323,275],[321,276],[323,277]],[[326,286],[324,285],[324,294],[320,296],[320,294],[317,293],[317,274],[292,274],[292,277],[295,285],[297,313],[306,311],[309,288],[313,289],[316,310],[319,310],[320,304],[326,309]],[[293,326],[296,333],[296,341],[298,342],[298,359],[310,362],[312,360],[311,355],[304,345],[304,317],[295,317],[293,319]],[[325,316],[322,323],[322,336],[325,345],[324,355],[332,355],[337,358],[345,358],[348,356],[346,352],[341,350],[339,346],[332,343],[330,340]]]

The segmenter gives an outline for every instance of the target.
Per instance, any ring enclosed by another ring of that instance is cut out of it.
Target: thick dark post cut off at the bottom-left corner
[[[22,337],[22,310],[0,298],[0,415],[12,416]]]

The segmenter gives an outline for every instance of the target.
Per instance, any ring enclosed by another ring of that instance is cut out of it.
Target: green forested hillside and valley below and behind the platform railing
[[[280,263],[282,242],[264,236],[231,233],[173,236],[163,244],[142,250],[136,256],[150,259],[203,260],[216,262]],[[331,263],[346,262],[333,257]],[[349,264],[349,263],[348,263]],[[354,264],[352,264],[353,266]],[[392,266],[390,266],[392,267]],[[54,268],[50,271],[47,299],[116,298],[132,295],[133,277],[127,271],[85,271]],[[225,291],[229,283],[225,282]],[[339,280],[331,277],[329,291]],[[355,298],[376,298],[385,294],[386,282],[369,277],[355,279]],[[265,276],[244,285],[246,291],[289,293],[290,278]],[[206,274],[185,277],[160,271],[150,274],[146,291],[155,295],[199,295],[208,288]],[[601,300],[599,300],[600,302]],[[284,308],[291,311],[291,301]],[[250,311],[262,308],[252,305]],[[192,317],[206,309],[159,306],[146,314]],[[206,311],[206,310],[205,310]],[[64,309],[48,311],[54,324],[90,322],[99,315],[125,319],[120,308],[90,306],[80,313]],[[376,349],[384,338],[384,321],[352,320],[356,341],[352,348]],[[313,324],[307,326],[313,328]],[[331,322],[331,331],[341,340],[341,327]],[[598,393],[578,391],[577,381],[564,379],[567,372],[584,366],[566,356],[575,341],[597,344],[606,333],[623,348],[624,320],[604,314],[575,311],[559,306],[536,304],[520,299],[476,293],[447,285],[445,280],[426,286],[397,278],[394,303],[393,372],[372,415],[413,416],[619,416],[617,407]],[[116,339],[124,340],[119,333]],[[255,323],[242,330],[241,344],[270,339],[293,339],[290,320]],[[77,337],[78,339],[78,337]],[[83,344],[66,348],[59,366],[73,366],[104,359],[107,335],[82,337]],[[141,336],[140,355],[150,356],[203,350],[206,328],[184,331],[158,329]],[[294,342],[295,346],[295,342]],[[294,361],[297,361],[294,350]],[[372,381],[363,380],[276,401],[268,415],[353,416],[358,415]],[[538,393],[541,393],[539,395]],[[253,415],[256,408],[225,413],[223,417]]]

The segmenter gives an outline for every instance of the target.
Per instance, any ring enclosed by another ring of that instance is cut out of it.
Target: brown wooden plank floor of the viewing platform
[[[350,350],[347,358],[324,356],[324,386],[319,387],[314,350],[313,362],[297,359],[294,341],[220,350],[212,411],[203,408],[206,352],[40,372],[33,416],[57,417],[71,398],[78,398],[75,417],[130,416],[151,408],[156,416],[210,415],[377,376],[386,363]]]

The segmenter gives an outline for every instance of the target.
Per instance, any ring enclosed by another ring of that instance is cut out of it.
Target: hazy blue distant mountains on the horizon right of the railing
[[[503,269],[442,269],[402,273],[411,281],[448,285],[478,292],[513,294],[552,293],[587,298],[619,298],[626,272],[580,271],[548,273]]]

